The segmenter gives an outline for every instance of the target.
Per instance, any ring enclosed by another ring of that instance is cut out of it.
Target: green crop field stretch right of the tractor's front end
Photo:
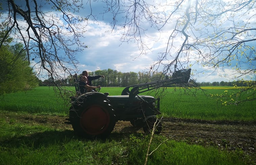
[[[209,94],[223,93],[223,89],[207,89],[204,93],[181,94],[168,89],[169,94],[161,99],[160,109],[165,116],[203,120],[255,121],[256,102],[223,105]]]

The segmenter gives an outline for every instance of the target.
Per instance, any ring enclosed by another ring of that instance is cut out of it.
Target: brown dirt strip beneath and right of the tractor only
[[[203,120],[162,119],[161,135],[189,144],[242,149],[256,160],[256,122],[217,122]],[[130,122],[118,121],[115,132],[132,131]],[[143,132],[142,129],[137,132]]]

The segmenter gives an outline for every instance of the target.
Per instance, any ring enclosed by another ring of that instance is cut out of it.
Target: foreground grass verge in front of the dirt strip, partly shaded
[[[11,112],[14,113],[14,112]],[[71,130],[0,119],[0,161],[3,165],[55,164],[144,164],[149,136],[113,133],[106,140],[86,140]],[[157,136],[152,152],[165,137]],[[148,157],[147,165],[245,165],[243,153],[220,151],[214,147],[188,145],[173,140],[163,143]]]

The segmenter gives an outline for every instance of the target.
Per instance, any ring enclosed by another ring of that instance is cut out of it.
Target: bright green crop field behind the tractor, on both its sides
[[[74,90],[74,88],[70,88]],[[223,105],[209,94],[223,93],[224,90],[235,90],[232,87],[210,87],[205,92],[197,91],[184,94],[183,90],[168,88],[168,93],[161,98],[160,110],[164,117],[203,119],[203,120],[230,120],[255,121],[256,102],[247,102],[241,105]],[[110,95],[120,95],[123,88],[103,87],[100,92],[109,92]],[[147,93],[142,93],[146,95]],[[154,95],[154,93],[151,93]],[[67,115],[69,107],[56,96],[50,87],[37,87],[27,92],[17,92],[4,95],[0,100],[0,109],[14,112]]]

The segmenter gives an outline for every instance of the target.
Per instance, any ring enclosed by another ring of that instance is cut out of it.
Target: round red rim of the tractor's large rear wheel
[[[109,113],[98,105],[92,105],[87,108],[80,118],[82,128],[90,135],[103,133],[108,128],[109,122]]]

